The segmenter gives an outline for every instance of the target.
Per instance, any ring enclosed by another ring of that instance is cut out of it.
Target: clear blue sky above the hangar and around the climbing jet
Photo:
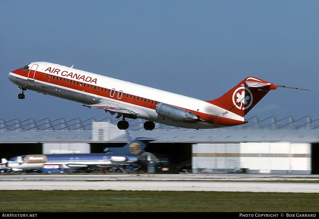
[[[247,76],[278,88],[246,116],[318,118],[318,1],[0,0],[0,118],[110,117],[26,91],[10,71],[33,61],[131,81],[202,100]],[[115,117],[115,116],[114,116]]]

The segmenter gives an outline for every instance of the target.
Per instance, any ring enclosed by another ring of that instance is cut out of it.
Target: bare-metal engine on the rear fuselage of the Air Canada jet
[[[157,104],[155,111],[164,119],[169,118],[175,122],[197,123],[199,121],[199,116],[196,114],[165,103]]]

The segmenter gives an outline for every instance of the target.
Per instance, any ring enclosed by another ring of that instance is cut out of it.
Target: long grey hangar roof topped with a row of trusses
[[[156,124],[153,131],[145,131],[145,120],[130,120],[127,131],[119,130],[117,137],[108,142],[127,142],[129,138],[148,137],[157,139],[155,142],[319,142],[319,119],[311,120],[309,116],[294,120],[285,117],[276,120],[268,117],[260,120],[258,117],[248,119],[249,123],[227,128],[190,130]],[[105,118],[97,120],[90,118],[80,120],[64,118],[50,120],[48,118],[20,121],[0,120],[0,143],[46,143],[46,142],[101,142],[93,141],[92,123],[110,122],[116,125],[119,119]],[[103,142],[103,141],[102,141]]]

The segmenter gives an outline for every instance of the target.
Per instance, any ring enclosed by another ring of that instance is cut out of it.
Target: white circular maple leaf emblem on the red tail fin
[[[233,103],[240,110],[248,109],[253,103],[253,95],[248,88],[239,87],[233,93]]]

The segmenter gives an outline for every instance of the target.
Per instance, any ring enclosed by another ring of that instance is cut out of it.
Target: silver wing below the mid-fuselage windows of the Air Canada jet
[[[121,104],[118,104],[114,101],[109,101],[109,100],[104,100],[103,102],[91,104],[91,105],[83,104],[82,106],[102,109],[102,110],[105,110],[106,112],[111,113],[112,115],[114,115],[115,113],[118,113],[119,114],[118,117],[121,117],[123,114],[129,114],[133,116],[136,116],[138,114],[137,112],[134,112],[133,110],[130,110],[129,108]]]

